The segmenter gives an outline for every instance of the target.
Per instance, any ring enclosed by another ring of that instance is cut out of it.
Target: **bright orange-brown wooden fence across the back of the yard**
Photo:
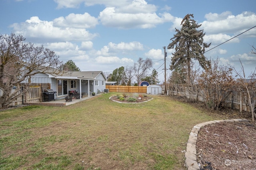
[[[109,92],[147,93],[147,86],[106,85],[106,89],[109,89]]]

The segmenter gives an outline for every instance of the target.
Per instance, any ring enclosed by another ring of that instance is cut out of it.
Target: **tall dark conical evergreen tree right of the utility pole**
[[[172,42],[168,45],[168,49],[175,47],[175,53],[172,53],[172,63],[170,69],[174,70],[184,63],[187,66],[187,80],[188,84],[192,83],[191,80],[191,64],[192,59],[199,61],[200,66],[206,69],[210,67],[210,61],[204,56],[205,48],[210,47],[210,44],[204,43],[204,30],[197,30],[200,26],[196,23],[193,14],[187,14],[181,21],[181,29],[176,29],[177,32],[172,37]]]

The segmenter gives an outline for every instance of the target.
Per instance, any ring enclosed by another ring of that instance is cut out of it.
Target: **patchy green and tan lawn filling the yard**
[[[185,170],[192,127],[214,117],[166,96],[122,104],[116,94],[1,111],[0,169]]]

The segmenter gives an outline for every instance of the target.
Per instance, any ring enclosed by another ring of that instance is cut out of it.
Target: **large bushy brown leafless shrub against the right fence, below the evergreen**
[[[233,69],[228,65],[219,65],[219,60],[212,62],[210,69],[202,71],[197,82],[200,94],[204,96],[206,107],[220,109],[226,98],[234,91]]]

